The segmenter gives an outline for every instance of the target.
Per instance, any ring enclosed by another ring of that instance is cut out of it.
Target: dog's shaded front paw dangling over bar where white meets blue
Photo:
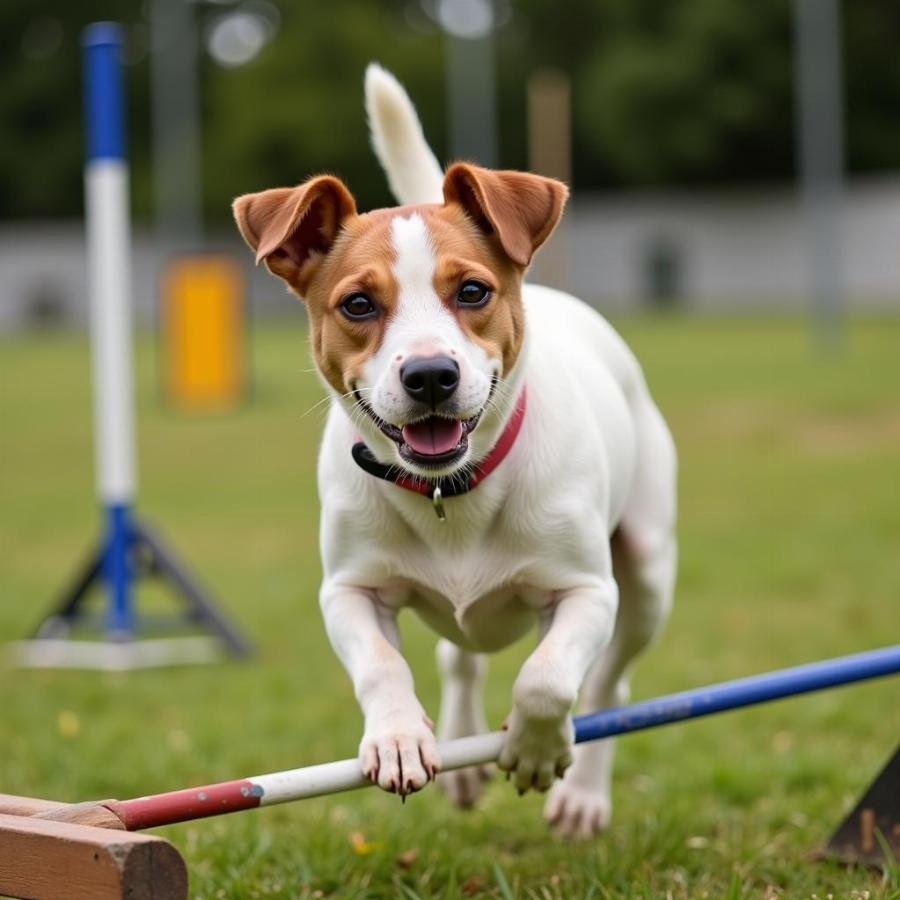
[[[513,707],[497,765],[509,772],[520,794],[546,791],[572,764],[575,728],[568,715],[537,718]]]

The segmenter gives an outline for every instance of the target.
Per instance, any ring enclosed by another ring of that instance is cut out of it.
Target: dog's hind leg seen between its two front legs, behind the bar
[[[487,673],[487,659],[442,638],[437,645],[437,663],[441,674],[438,738],[447,741],[486,732],[481,686]],[[470,766],[438,775],[437,785],[457,806],[471,807],[489,775],[487,766]]]

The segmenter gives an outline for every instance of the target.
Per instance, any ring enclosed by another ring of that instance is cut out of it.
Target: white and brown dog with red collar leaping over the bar
[[[439,635],[437,737],[487,730],[485,654],[537,631],[498,765],[545,817],[609,821],[613,743],[573,746],[579,699],[626,702],[676,571],[676,454],[635,357],[586,304],[525,283],[563,213],[553,179],[441,171],[406,92],[371,65],[375,152],[402,204],[359,213],[332,175],[234,202],[240,233],[306,304],[331,393],[318,466],[320,606],[365,719],[359,761],[405,796],[440,769],[397,629]],[[483,772],[442,774],[461,806]]]

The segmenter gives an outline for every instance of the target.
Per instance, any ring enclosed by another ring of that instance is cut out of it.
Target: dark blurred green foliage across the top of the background
[[[388,202],[368,148],[362,73],[377,59],[409,87],[429,139],[446,147],[443,38],[419,0],[273,0],[280,30],[225,69],[201,55],[203,196],[211,220],[242,191],[329,170],[363,208]],[[511,0],[497,32],[501,163],[525,167],[525,81],[573,79],[577,188],[776,180],[793,168],[790,0]],[[0,216],[78,215],[79,33],[128,26],[129,130],[138,216],[151,210],[147,3],[4,0],[0,5]],[[202,35],[229,7],[197,3]],[[900,12],[843,4],[850,166],[900,166]]]

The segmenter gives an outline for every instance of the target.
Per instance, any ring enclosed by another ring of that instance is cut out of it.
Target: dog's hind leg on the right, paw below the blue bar
[[[589,672],[579,708],[593,712],[627,703],[629,672],[672,606],[677,566],[675,453],[655,407],[639,422],[642,450],[625,514],[612,537],[619,611],[612,641]],[[551,789],[545,818],[560,833],[590,837],[609,822],[612,739],[580,744],[562,781]]]

